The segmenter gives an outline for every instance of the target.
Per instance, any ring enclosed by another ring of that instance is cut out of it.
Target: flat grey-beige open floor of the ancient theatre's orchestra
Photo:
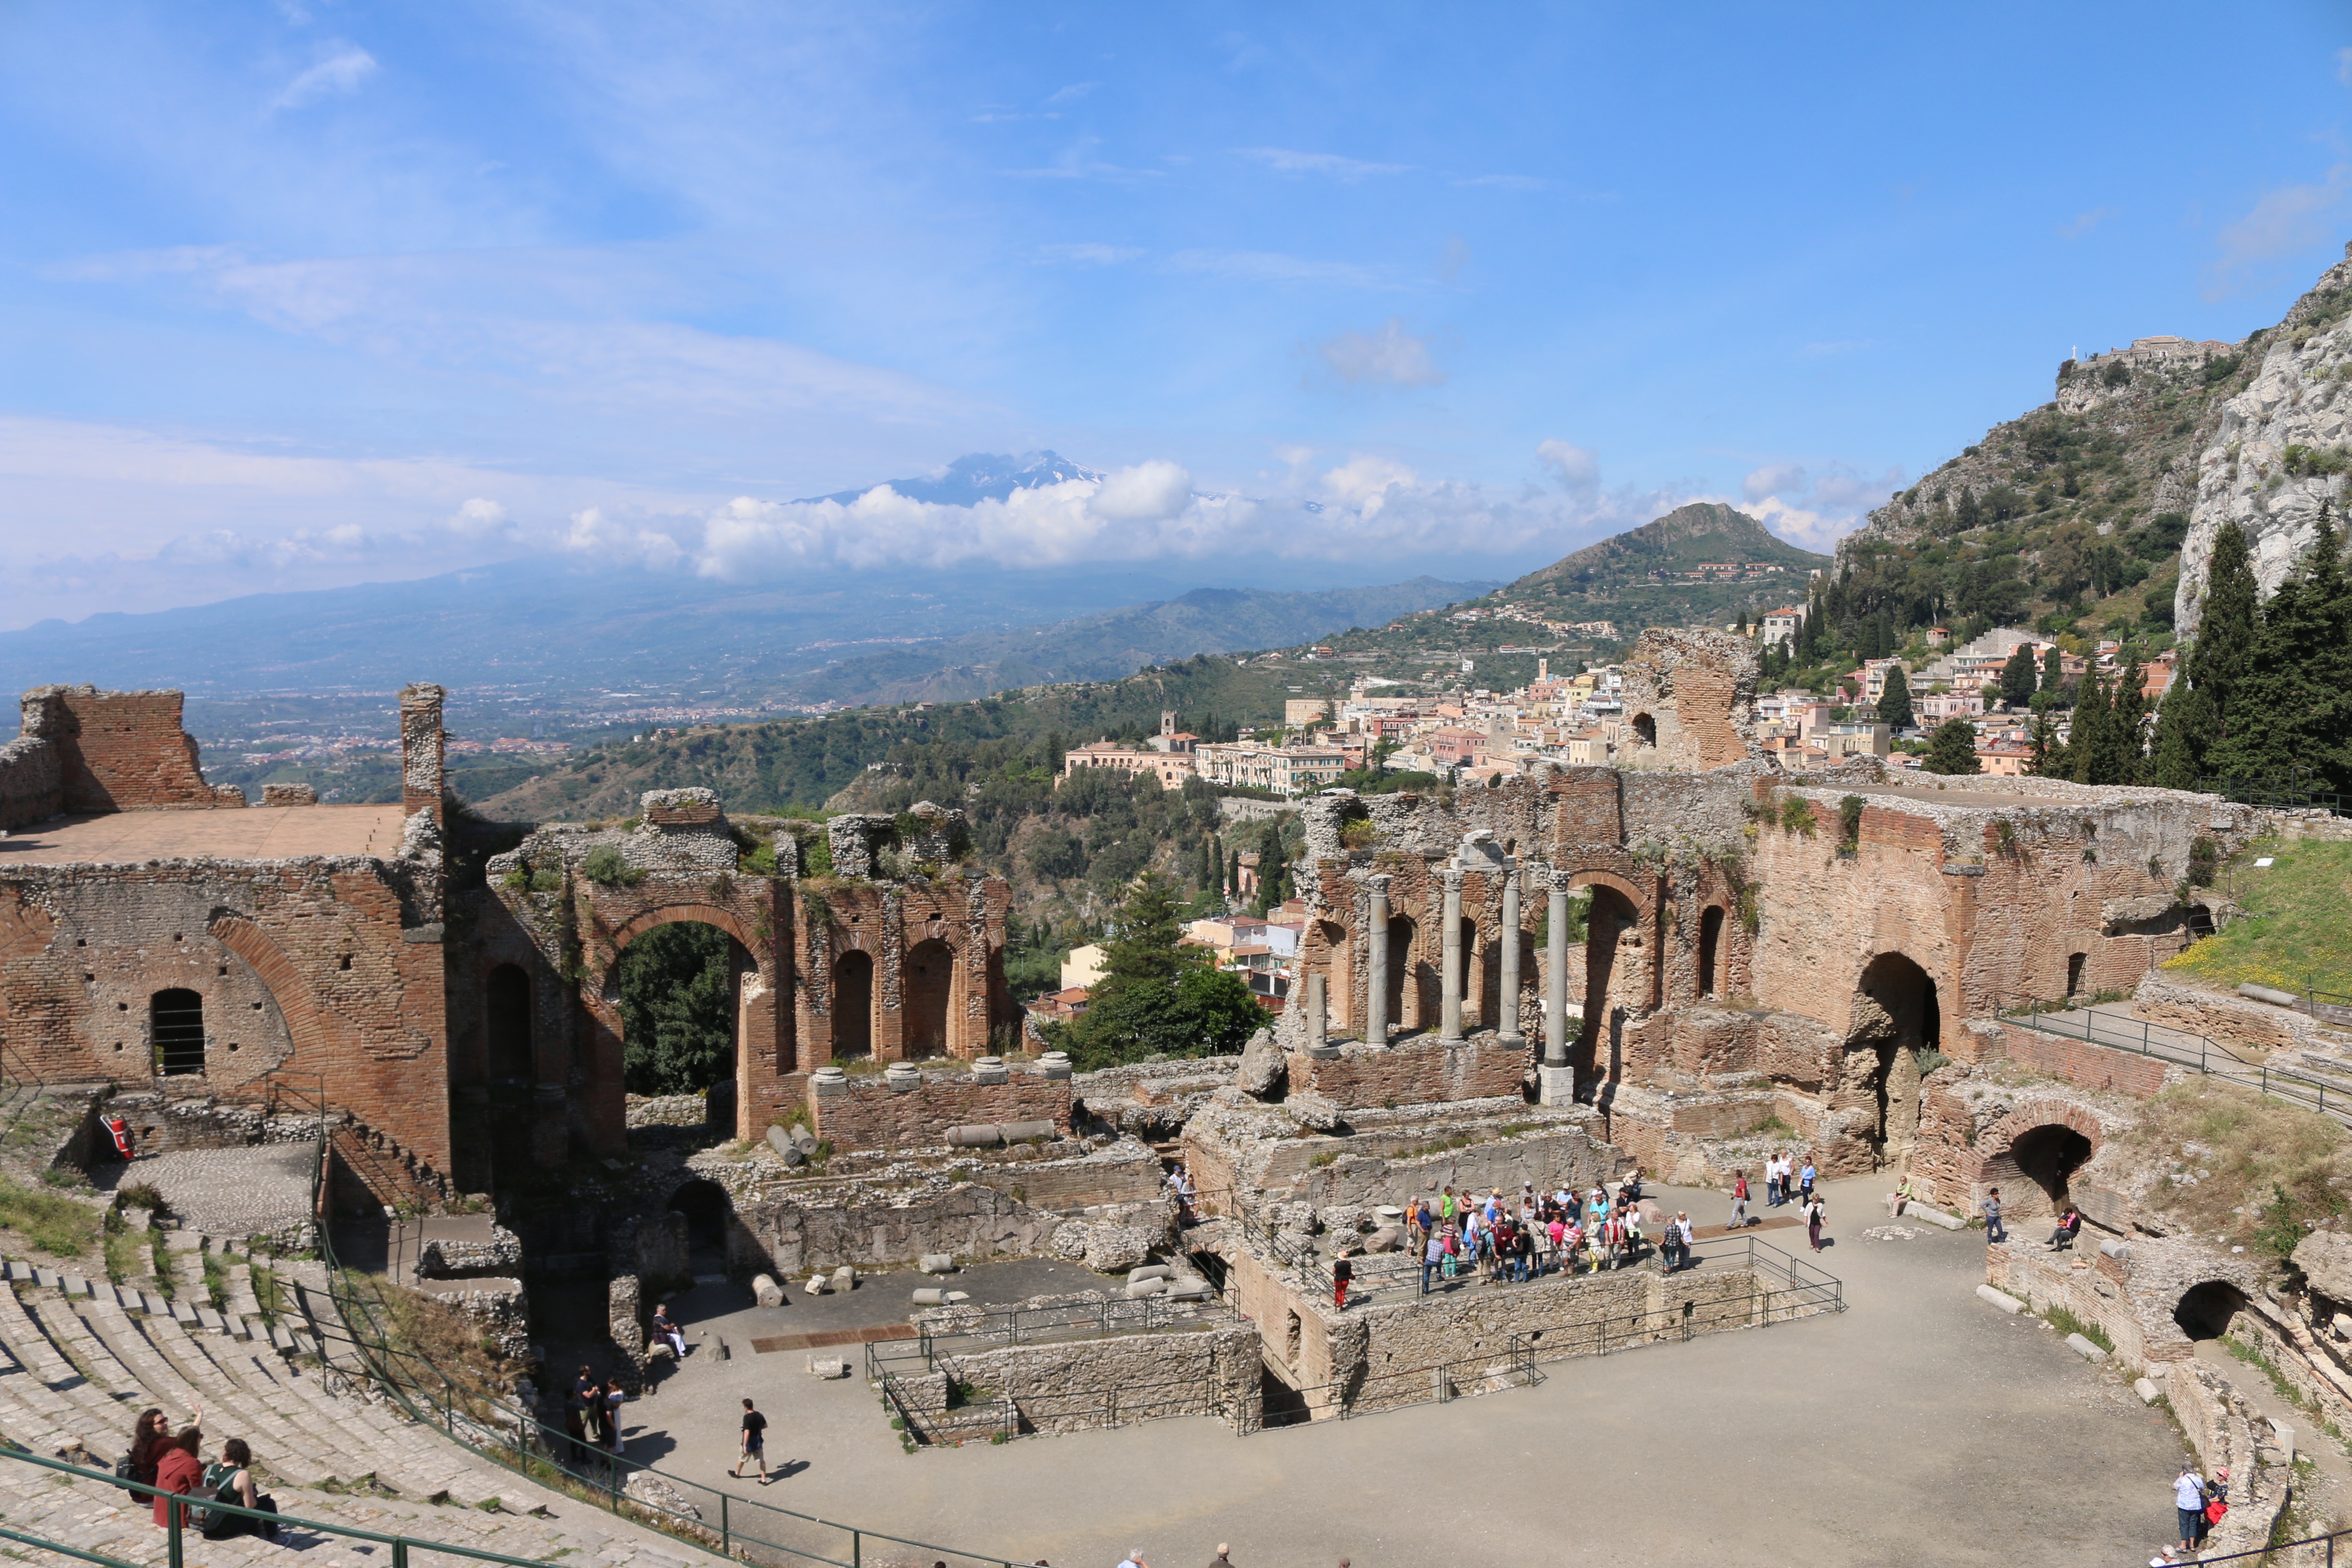
[[[1825,1197],[1846,1239],[1820,1262],[1849,1312],[1566,1361],[1536,1389],[1256,1436],[1181,1420],[908,1455],[858,1378],[818,1382],[804,1354],[696,1354],[628,1408],[630,1455],[1061,1566],[1141,1547],[1185,1568],[1221,1540],[1242,1568],[2145,1563],[2171,1528],[2169,1418],[1980,1302],[1973,1232],[1867,1241],[1882,1185]],[[1661,1199],[1722,1218],[1719,1194]],[[743,1394],[774,1422],[771,1465],[793,1467],[767,1488],[724,1474]]]

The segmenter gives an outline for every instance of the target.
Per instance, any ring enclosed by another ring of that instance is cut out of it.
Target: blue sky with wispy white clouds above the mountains
[[[2352,237],[2352,14],[0,9],[0,625],[510,557],[743,581],[1825,545]],[[1007,508],[795,496],[964,451]]]

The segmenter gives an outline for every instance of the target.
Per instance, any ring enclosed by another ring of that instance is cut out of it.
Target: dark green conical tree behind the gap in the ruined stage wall
[[[1136,877],[1120,903],[1117,936],[1103,943],[1103,978],[1063,1030],[1073,1063],[1091,1072],[1148,1056],[1230,1053],[1265,1023],[1249,983],[1211,969],[1204,947],[1178,947],[1181,936],[1167,879]]]

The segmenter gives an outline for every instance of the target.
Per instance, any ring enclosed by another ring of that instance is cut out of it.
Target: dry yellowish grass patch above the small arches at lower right
[[[2216,1079],[2173,1084],[2140,1105],[2122,1143],[2169,1178],[2150,1208],[2199,1239],[2270,1253],[2312,1222],[2343,1211],[2352,1185],[2352,1138],[2326,1117]]]

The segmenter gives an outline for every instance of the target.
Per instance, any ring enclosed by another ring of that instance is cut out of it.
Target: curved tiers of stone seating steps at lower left
[[[181,1232],[191,1234],[191,1232]],[[440,1540],[522,1559],[579,1563],[703,1561],[706,1554],[607,1509],[541,1488],[480,1460],[365,1387],[325,1298],[322,1265],[280,1265],[282,1312],[263,1321],[249,1262],[230,1265],[230,1312],[205,1302],[202,1237],[174,1251],[188,1281],[176,1302],[106,1281],[9,1262],[0,1284],[0,1436],[52,1458],[108,1469],[132,1420],[162,1406],[205,1410],[207,1458],[242,1436],[278,1509],[362,1530]],[[233,1255],[233,1253],[230,1253]],[[308,1274],[308,1279],[301,1279]],[[249,1307],[249,1309],[240,1309]],[[343,1371],[339,1371],[339,1363]],[[0,1519],[85,1552],[165,1561],[146,1500],[113,1486],[0,1460]],[[306,1561],[388,1561],[388,1547],[294,1533]],[[188,1563],[278,1561],[280,1544],[188,1537]]]

